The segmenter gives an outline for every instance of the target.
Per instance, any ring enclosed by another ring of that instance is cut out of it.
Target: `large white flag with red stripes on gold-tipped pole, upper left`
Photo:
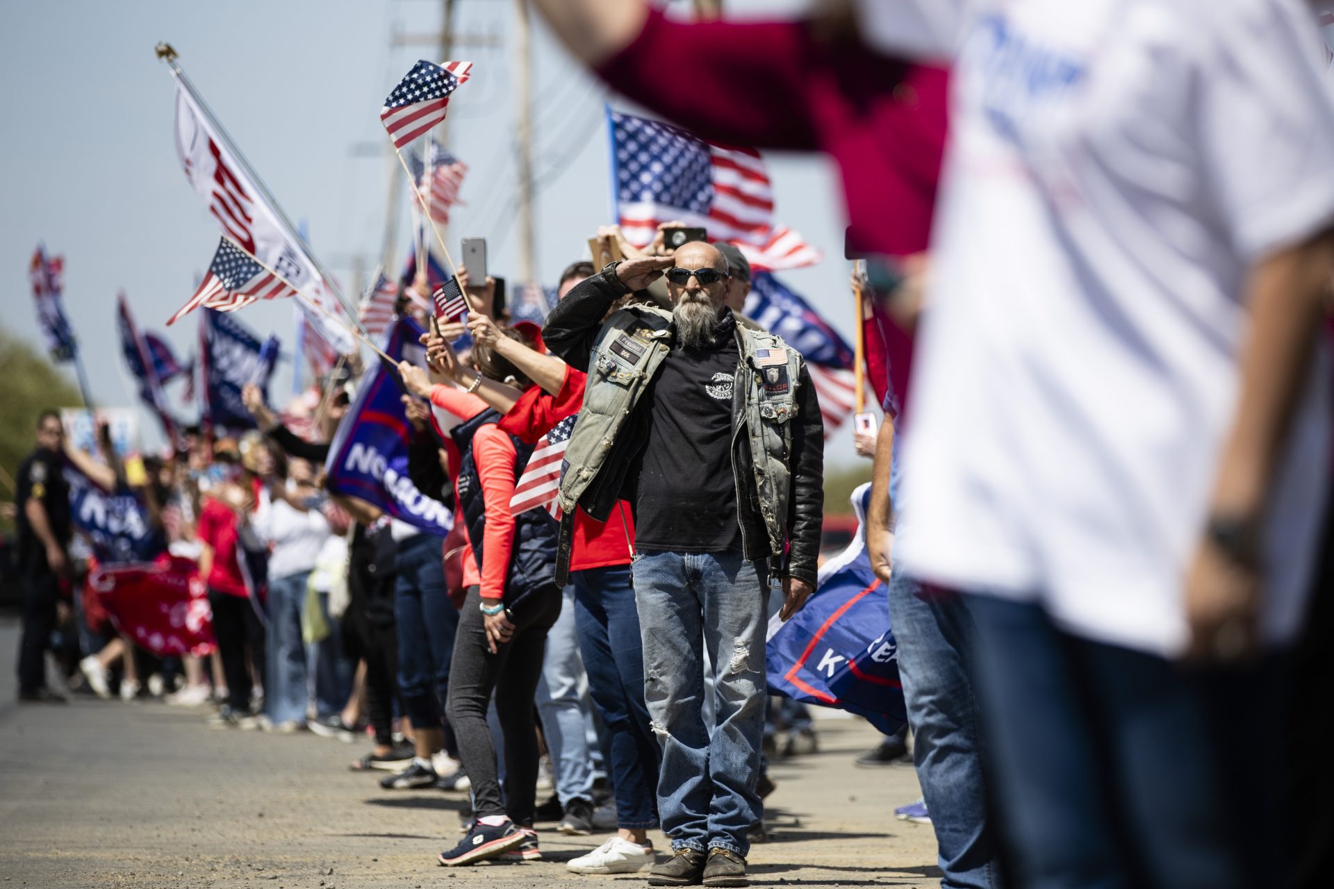
[[[185,169],[185,177],[204,200],[208,212],[217,220],[223,237],[244,251],[241,257],[245,253],[253,256],[257,263],[281,279],[264,281],[263,269],[252,271],[245,281],[240,281],[244,285],[240,291],[244,292],[237,293],[225,288],[231,296],[213,295],[213,301],[231,299],[231,308],[240,308],[252,301],[252,297],[287,296],[292,291],[283,287],[285,283],[328,312],[347,320],[347,313],[334,295],[332,284],[325,280],[305,241],[227,139],[175,63],[172,73],[176,76],[176,153]],[[219,249],[221,252],[221,247]],[[215,257],[213,264],[219,264],[219,257]],[[196,293],[192,303],[199,304],[200,299],[200,293]],[[193,308],[191,304],[187,305]],[[340,353],[356,351],[356,341],[344,328],[319,309],[307,305],[305,299],[299,299],[297,305],[301,307],[311,327],[331,348]]]

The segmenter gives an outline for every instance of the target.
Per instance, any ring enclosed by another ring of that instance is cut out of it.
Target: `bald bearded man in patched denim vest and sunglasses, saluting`
[[[667,276],[672,311],[618,300]],[[612,263],[547,319],[547,347],[587,371],[560,482],[558,577],[575,506],[598,521],[634,505],[644,698],[662,746],[658,808],[674,856],[650,885],[740,886],[764,722],[766,584],[782,617],[815,586],[824,429],[800,355],[739,327],[727,261],[691,243]],[[628,541],[628,528],[627,528]],[[714,672],[702,716],[700,645]]]

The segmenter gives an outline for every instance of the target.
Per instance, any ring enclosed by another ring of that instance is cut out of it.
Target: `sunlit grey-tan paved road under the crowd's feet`
[[[546,862],[439,868],[466,797],[380,790],[347,769],[360,745],[212,730],[204,713],[161,704],[19,706],[16,638],[0,618],[0,889],[643,885],[568,873],[602,837],[554,830]],[[939,886],[930,828],[891,813],[916,798],[912,769],[852,768],[875,741],[862,721],[824,718],[819,733],[820,753],[772,769],[755,885]]]

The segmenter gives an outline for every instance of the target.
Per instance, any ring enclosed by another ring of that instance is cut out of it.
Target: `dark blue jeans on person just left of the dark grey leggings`
[[[459,610],[444,582],[440,538],[418,534],[398,542],[394,620],[399,637],[399,696],[412,725],[443,725],[450,660]]]

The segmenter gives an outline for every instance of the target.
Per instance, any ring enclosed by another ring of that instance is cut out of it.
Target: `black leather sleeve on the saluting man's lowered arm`
[[[788,474],[787,573],[814,586],[824,521],[824,420],[804,363],[799,380],[800,413],[792,427]]]

